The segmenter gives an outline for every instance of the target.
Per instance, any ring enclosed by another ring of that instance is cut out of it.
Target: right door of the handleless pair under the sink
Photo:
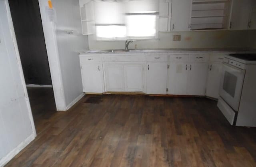
[[[143,91],[143,64],[124,66],[125,91]]]

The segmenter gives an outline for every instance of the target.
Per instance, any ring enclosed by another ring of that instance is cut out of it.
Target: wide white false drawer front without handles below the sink
[[[127,55],[127,56],[106,56],[105,62],[143,62],[144,55]]]

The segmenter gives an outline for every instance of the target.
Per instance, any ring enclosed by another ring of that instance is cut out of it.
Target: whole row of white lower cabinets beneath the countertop
[[[218,98],[216,92],[225,54],[81,54],[83,90]]]

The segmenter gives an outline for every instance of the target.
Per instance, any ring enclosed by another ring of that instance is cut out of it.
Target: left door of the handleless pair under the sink
[[[105,65],[106,91],[124,91],[123,66]]]

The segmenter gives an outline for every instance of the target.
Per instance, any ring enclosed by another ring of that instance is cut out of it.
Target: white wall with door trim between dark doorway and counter
[[[53,0],[56,22],[47,19],[48,0],[38,1],[56,108],[66,111],[84,95],[78,53],[88,49],[88,40],[82,36],[79,1]]]

